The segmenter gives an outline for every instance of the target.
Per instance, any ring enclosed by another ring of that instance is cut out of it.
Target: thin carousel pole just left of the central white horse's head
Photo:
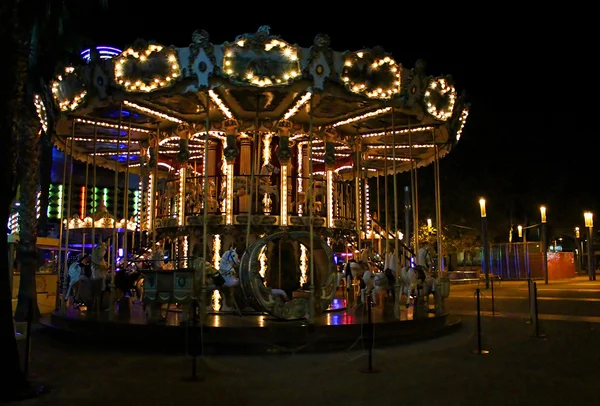
[[[206,287],[206,266],[210,263],[207,259],[208,256],[208,138],[210,135],[210,95],[209,90],[206,90],[206,121],[204,123],[204,156],[202,157],[203,168],[202,177],[204,181],[204,204],[202,205],[202,267],[200,275],[200,329],[202,329],[202,322],[206,316],[206,309],[208,308],[208,297]]]

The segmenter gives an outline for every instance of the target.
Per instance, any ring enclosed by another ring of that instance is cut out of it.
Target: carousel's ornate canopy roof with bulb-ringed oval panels
[[[291,142],[306,142],[312,131],[317,162],[326,134],[334,134],[338,169],[352,166],[361,145],[371,174],[402,172],[411,162],[432,162],[436,147],[439,156],[447,154],[469,111],[452,78],[427,76],[422,61],[409,69],[377,47],[337,52],[325,34],[302,48],[268,27],[220,45],[199,30],[183,48],[138,40],[124,51],[85,50],[51,90],[51,97],[36,97],[36,108],[45,126],[49,103],[63,113],[55,123],[57,147],[72,146],[78,159],[119,170],[129,164],[134,171],[153,138],[168,168],[184,132],[197,159],[207,123],[211,138],[224,139],[226,119],[237,120],[250,136],[276,132],[285,119],[293,125]]]

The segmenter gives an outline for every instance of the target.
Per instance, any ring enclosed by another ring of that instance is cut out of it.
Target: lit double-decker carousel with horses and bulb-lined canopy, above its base
[[[304,48],[263,26],[223,44],[197,30],[182,48],[138,40],[86,50],[49,88],[48,100],[36,99],[43,125],[47,109],[60,110],[55,146],[85,165],[85,185],[72,186],[65,159],[62,193],[98,193],[102,168],[122,202],[107,208],[87,196],[77,210],[61,207],[63,243],[93,247],[92,278],[105,278],[109,317],[118,315],[115,278],[131,269],[144,275],[148,319],[197,301],[203,317],[310,323],[335,303],[349,311],[366,293],[387,300],[399,320],[403,296],[412,303],[417,168],[437,168],[468,115],[450,76],[428,76],[423,61],[404,67],[382,48],[338,52],[324,34]],[[400,200],[395,177],[409,171],[404,214],[414,228],[401,232],[402,213],[387,202]],[[354,257],[348,271],[334,252]],[[440,261],[432,272],[436,315],[448,295],[443,271]],[[66,294],[58,307],[64,317]]]

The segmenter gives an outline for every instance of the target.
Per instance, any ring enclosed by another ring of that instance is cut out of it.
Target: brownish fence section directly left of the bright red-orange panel
[[[490,272],[502,279],[543,278],[542,261],[539,242],[513,242],[490,246]]]

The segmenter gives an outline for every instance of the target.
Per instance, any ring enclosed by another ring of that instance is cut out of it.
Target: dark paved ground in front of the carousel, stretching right
[[[600,320],[595,316],[600,316],[600,283],[577,280],[540,286],[540,325],[546,339],[532,338],[532,327],[525,323],[526,285],[496,286],[500,314],[484,313],[482,318],[488,355],[472,354],[477,347],[471,315],[474,287],[452,287],[449,306],[454,314],[463,314],[460,331],[414,345],[375,349],[377,374],[359,372],[367,366],[359,337],[353,350],[334,354],[206,357],[199,362],[202,380],[190,383],[183,381],[190,375],[189,358],[94,351],[85,343],[73,349],[40,331],[34,337],[32,371],[54,390],[18,404],[597,404]],[[490,293],[484,292],[487,297]],[[485,300],[483,307],[490,311],[491,303]],[[547,320],[544,315],[556,317]],[[594,318],[573,318],[581,315]]]

